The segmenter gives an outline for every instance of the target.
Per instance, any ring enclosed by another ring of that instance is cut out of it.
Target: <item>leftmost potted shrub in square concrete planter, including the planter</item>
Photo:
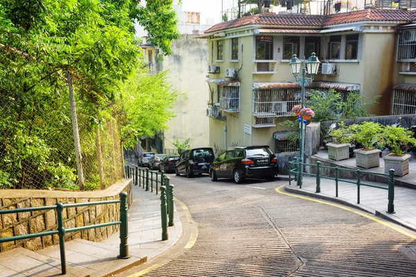
[[[342,121],[338,124],[338,128],[331,129],[329,136],[332,137],[332,142],[327,143],[328,159],[336,161],[349,158],[349,147],[351,144],[349,129],[345,127],[345,123]]]

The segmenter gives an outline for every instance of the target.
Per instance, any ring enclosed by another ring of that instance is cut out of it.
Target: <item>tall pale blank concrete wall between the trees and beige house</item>
[[[164,131],[164,148],[176,149],[175,139],[183,142],[191,138],[192,148],[209,145],[209,118],[206,116],[208,102],[207,69],[208,44],[206,39],[193,35],[180,35],[172,44],[173,55],[164,57],[163,70],[169,70],[172,89],[185,93],[171,110],[176,117],[168,122]]]

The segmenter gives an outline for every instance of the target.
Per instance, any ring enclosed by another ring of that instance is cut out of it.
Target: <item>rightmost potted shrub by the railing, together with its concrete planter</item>
[[[395,175],[403,177],[409,173],[408,143],[416,145],[413,132],[404,127],[385,126],[383,130],[383,144],[390,149],[390,154],[383,157],[384,172],[394,169]]]

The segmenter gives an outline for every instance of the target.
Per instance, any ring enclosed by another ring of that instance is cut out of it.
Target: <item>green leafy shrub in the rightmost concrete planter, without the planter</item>
[[[408,143],[416,145],[413,132],[404,127],[385,126],[382,138],[383,145],[389,146],[391,152],[397,155],[406,154],[406,151],[402,149],[404,145],[408,145]]]

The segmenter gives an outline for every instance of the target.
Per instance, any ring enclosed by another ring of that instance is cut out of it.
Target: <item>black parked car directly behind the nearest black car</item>
[[[212,148],[193,148],[185,150],[180,154],[176,163],[176,176],[181,174],[191,177],[193,174],[208,173],[209,166],[214,161],[214,151]]]

